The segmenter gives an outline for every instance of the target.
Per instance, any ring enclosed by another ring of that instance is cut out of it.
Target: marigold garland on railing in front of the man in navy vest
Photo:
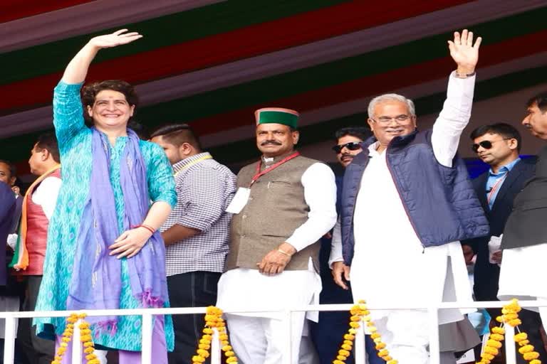
[[[344,341],[340,346],[340,350],[338,350],[338,355],[333,360],[333,364],[345,364],[345,360],[348,359],[353,349],[353,341],[355,341],[355,334],[360,327],[360,321],[367,323],[368,331],[371,333],[370,338],[374,340],[378,356],[385,360],[387,364],[397,364],[398,361],[390,356],[390,352],[382,341],[382,336],[377,332],[373,321],[370,320],[370,311],[367,309],[366,302],[363,300],[358,301],[358,304],[350,309],[350,314],[350,328],[348,329],[348,333],[344,334]]]

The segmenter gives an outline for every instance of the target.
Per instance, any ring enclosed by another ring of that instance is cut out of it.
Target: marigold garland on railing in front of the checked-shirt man
[[[203,329],[203,336],[199,340],[196,355],[192,356],[192,364],[202,364],[209,358],[214,328],[217,328],[219,332],[220,345],[226,356],[226,363],[237,364],[236,353],[234,353],[228,341],[226,322],[222,319],[222,310],[215,306],[207,307],[205,312],[205,328]]]

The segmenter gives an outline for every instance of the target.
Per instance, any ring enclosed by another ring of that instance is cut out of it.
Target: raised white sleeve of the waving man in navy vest
[[[459,138],[469,123],[473,105],[475,76],[457,78],[454,72],[450,75],[447,87],[447,100],[442,111],[433,124],[431,141],[433,153],[440,164],[452,167]]]

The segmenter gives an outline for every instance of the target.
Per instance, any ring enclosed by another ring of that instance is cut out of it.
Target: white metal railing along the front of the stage
[[[427,310],[429,314],[429,352],[430,364],[439,364],[439,319],[438,313],[442,309],[480,309],[480,308],[501,308],[509,304],[509,301],[483,301],[483,302],[446,302],[437,306],[382,306],[368,307],[369,310]],[[547,307],[547,301],[519,301],[521,307]],[[281,313],[283,314],[283,322],[286,329],[284,336],[285,348],[282,364],[292,364],[291,357],[291,313],[302,311],[349,311],[353,304],[323,304],[309,305],[303,307],[288,308]],[[172,309],[123,309],[123,310],[96,310],[85,311],[87,316],[142,316],[142,364],[152,364],[152,316],[155,315],[175,315],[175,314],[205,314],[205,307],[192,308],[172,308]],[[261,309],[247,311],[225,311],[228,314],[244,314],[244,313],[271,313],[272,311],[264,311]],[[278,312],[278,311],[276,311]],[[0,318],[6,319],[5,336],[4,336],[4,363],[14,363],[14,347],[15,347],[15,328],[16,319],[32,318],[32,317],[68,317],[73,314],[73,311],[28,311],[28,312],[0,312]],[[514,346],[514,328],[506,327],[506,364],[516,364],[516,349]],[[75,325],[73,337],[73,360],[72,364],[81,364],[80,358],[82,346],[80,343],[80,333],[78,326]],[[341,338],[340,338],[341,341]],[[511,343],[511,345],[509,345]],[[215,330],[212,342],[211,363],[221,363],[221,350],[218,340],[218,333]],[[355,338],[355,364],[365,364],[365,339],[362,327],[359,328]]]

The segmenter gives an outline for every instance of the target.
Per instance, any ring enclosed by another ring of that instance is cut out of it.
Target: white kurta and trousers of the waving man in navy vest
[[[459,138],[471,116],[473,91],[474,77],[459,79],[451,75],[447,100],[432,132],[434,156],[444,166],[452,166]],[[354,300],[365,299],[370,306],[473,301],[460,242],[422,246],[387,167],[385,153],[379,154],[376,148],[377,143],[369,147],[370,160],[353,216],[355,253],[350,278]],[[343,260],[340,242],[337,244],[330,262]],[[467,312],[439,311],[439,323],[462,320]],[[392,358],[400,364],[429,362],[427,311],[371,311],[371,316]]]

